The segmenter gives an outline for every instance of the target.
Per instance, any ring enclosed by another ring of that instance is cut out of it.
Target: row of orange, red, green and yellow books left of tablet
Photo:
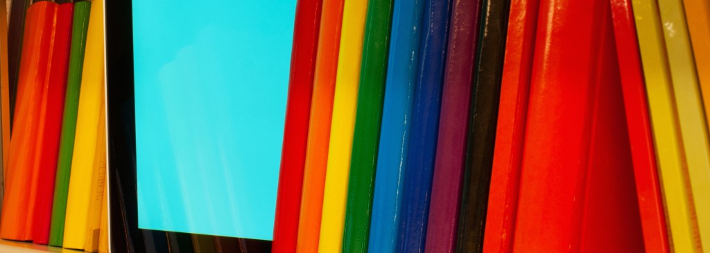
[[[107,252],[102,0],[9,6],[0,10],[0,238]]]

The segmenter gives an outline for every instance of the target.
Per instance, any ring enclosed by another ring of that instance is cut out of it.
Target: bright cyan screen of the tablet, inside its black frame
[[[133,1],[138,227],[271,240],[295,1]]]

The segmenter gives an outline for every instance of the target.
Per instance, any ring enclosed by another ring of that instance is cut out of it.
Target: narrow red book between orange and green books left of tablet
[[[44,99],[40,115],[44,117],[43,134],[40,145],[43,149],[38,157],[38,189],[34,211],[34,236],[37,244],[49,242],[54,182],[57,172],[59,139],[64,113],[64,96],[67,86],[69,50],[71,45],[72,18],[74,4],[60,4],[57,9],[53,45],[49,52],[49,65]]]

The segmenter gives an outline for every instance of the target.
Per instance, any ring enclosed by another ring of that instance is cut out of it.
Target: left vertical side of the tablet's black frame
[[[131,6],[131,0],[104,1],[111,252],[136,252],[145,244],[138,229]]]

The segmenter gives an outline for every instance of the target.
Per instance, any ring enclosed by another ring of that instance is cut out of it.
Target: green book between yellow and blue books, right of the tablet
[[[368,248],[392,9],[393,0],[368,1],[343,252],[367,252]]]

